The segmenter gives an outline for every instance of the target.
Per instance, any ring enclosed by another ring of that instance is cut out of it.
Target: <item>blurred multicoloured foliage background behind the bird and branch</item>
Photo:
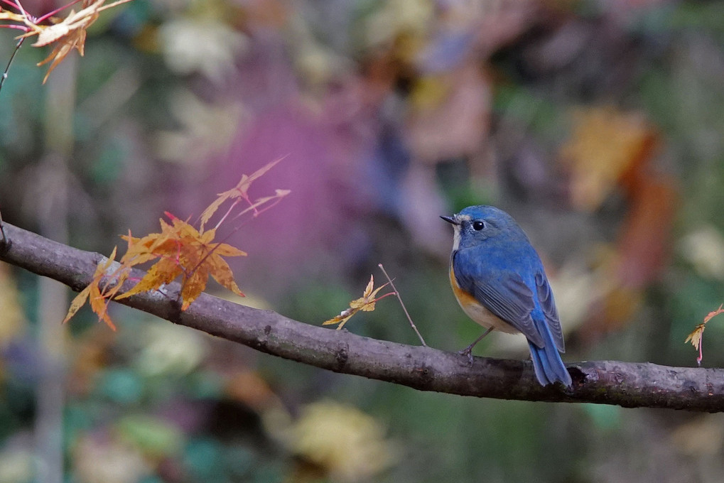
[[[477,203],[538,248],[566,361],[692,366],[684,339],[724,302],[723,1],[134,0],[42,85],[47,54],[26,43],[0,92],[0,207],[54,240],[108,254],[286,156],[250,194],[292,193],[230,238],[240,303],[321,324],[382,263],[429,345],[459,350],[481,328],[439,215]],[[62,326],[71,297],[0,265],[0,482],[724,474],[722,415],[417,392],[122,307],[117,332],[90,311]],[[346,328],[418,344],[394,298]]]

